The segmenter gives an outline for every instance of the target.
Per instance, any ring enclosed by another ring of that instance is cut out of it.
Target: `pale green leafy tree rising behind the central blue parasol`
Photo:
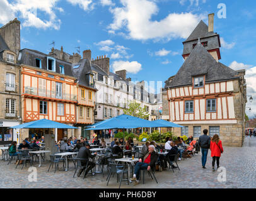
[[[141,107],[141,104],[137,103],[135,100],[129,102],[128,109],[124,110],[124,114],[139,117],[141,119],[148,119],[149,112],[146,107]]]

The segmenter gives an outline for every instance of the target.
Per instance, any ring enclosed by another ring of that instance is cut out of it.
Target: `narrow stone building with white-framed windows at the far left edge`
[[[21,122],[20,21],[14,19],[0,28],[0,145],[17,141],[18,130],[8,129]]]

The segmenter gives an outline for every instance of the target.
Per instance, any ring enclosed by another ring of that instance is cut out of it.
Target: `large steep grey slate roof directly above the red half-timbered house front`
[[[235,70],[216,62],[199,41],[175,77],[166,80],[165,88],[192,85],[192,77],[198,75],[206,75],[206,83],[239,78]]]

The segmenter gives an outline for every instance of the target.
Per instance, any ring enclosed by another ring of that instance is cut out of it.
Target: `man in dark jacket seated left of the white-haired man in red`
[[[81,161],[81,165],[83,165],[83,168],[81,168],[81,170],[79,170],[78,177],[80,177],[81,173],[83,173],[83,171],[85,170],[86,163],[88,163],[88,166],[87,166],[87,170],[84,173],[85,175],[87,175],[87,173],[95,167],[95,163],[93,163],[92,161],[89,161],[89,158],[94,158],[96,155],[97,155],[97,153],[95,153],[94,155],[91,155],[90,144],[85,144],[85,146],[82,146],[79,149],[77,158],[83,158],[86,160]],[[85,177],[85,175],[84,175],[84,177]]]

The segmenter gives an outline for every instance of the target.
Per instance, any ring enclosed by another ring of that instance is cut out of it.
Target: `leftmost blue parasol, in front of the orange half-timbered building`
[[[37,121],[27,122],[25,124],[20,124],[18,126],[12,126],[10,128],[59,128],[59,129],[77,129],[74,126],[69,126],[55,121],[50,121],[48,119],[40,119]]]

